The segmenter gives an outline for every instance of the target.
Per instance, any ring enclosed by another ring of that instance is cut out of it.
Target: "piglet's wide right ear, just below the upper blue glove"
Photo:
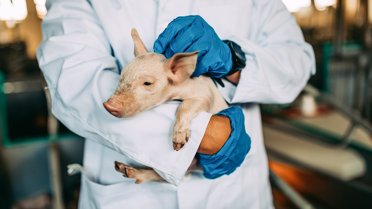
[[[195,70],[199,52],[177,53],[168,59],[165,65],[171,71],[170,79],[176,83],[182,83],[189,78]]]

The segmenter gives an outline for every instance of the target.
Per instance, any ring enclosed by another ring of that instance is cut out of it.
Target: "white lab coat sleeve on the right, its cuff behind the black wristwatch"
[[[241,46],[246,67],[237,86],[219,90],[229,103],[291,103],[315,74],[312,46],[281,0],[255,0],[249,37],[227,38]]]

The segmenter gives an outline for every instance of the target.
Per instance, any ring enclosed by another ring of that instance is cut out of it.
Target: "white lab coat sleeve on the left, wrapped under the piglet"
[[[189,142],[177,152],[171,134],[180,102],[168,102],[128,119],[110,115],[102,103],[115,90],[119,70],[92,6],[86,0],[49,1],[47,5],[37,58],[49,87],[52,113],[76,134],[153,167],[178,185],[211,114],[202,112],[192,120]]]

